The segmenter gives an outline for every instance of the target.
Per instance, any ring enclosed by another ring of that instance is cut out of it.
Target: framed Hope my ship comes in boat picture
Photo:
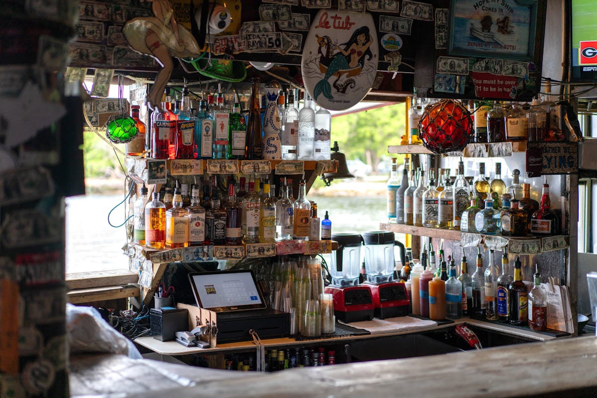
[[[450,0],[448,53],[533,60],[538,0]]]

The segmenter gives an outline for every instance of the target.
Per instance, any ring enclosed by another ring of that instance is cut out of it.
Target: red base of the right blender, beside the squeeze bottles
[[[404,283],[388,282],[381,285],[364,282],[371,289],[375,305],[375,317],[379,319],[405,316],[410,312],[410,297]],[[334,303],[335,304],[335,303]]]

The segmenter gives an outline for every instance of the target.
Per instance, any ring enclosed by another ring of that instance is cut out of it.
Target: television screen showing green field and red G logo
[[[597,82],[597,7],[595,0],[571,0],[571,77]]]

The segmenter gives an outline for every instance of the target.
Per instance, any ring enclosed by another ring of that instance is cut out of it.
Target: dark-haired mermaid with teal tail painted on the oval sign
[[[327,67],[324,78],[321,79],[313,89],[313,98],[317,100],[319,94],[324,94],[328,99],[333,99],[332,89],[328,79],[331,76],[337,75],[337,79],[334,83],[340,79],[340,76],[350,69],[357,67],[363,67],[365,65],[365,56],[367,61],[373,58],[373,53],[369,48],[373,43],[373,38],[369,33],[369,27],[362,26],[356,29],[349,41],[341,45],[331,44],[334,50],[338,50],[338,53],[334,55],[330,64]],[[343,46],[343,47],[340,47]],[[334,84],[336,87],[336,84]]]

